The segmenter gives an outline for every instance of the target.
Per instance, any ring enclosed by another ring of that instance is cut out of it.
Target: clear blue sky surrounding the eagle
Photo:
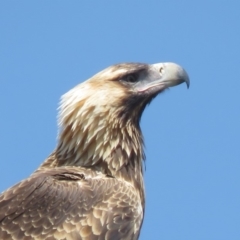
[[[240,239],[240,2],[1,1],[0,191],[56,145],[60,96],[119,62],[174,61],[191,86],[141,126],[141,240]]]

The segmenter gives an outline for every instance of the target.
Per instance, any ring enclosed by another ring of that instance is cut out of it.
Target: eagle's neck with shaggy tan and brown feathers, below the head
[[[62,119],[57,148],[42,167],[79,166],[99,171],[133,184],[144,199],[144,144],[139,125],[114,112],[96,115],[95,111],[76,115],[74,121]]]

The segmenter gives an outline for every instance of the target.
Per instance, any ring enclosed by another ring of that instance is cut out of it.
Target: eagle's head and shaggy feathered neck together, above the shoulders
[[[62,96],[58,165],[77,165],[116,175],[142,171],[139,126],[147,104],[165,89],[185,82],[175,63],[122,63],[97,73]]]

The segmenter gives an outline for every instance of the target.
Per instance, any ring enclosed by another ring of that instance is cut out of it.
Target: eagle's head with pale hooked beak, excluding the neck
[[[63,95],[60,126],[76,125],[89,112],[95,118],[102,115],[138,123],[145,106],[155,96],[183,82],[189,87],[186,71],[175,63],[110,66]]]

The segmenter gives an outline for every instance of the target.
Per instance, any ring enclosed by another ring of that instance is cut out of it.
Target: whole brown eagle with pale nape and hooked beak
[[[110,66],[64,94],[55,150],[0,195],[0,239],[136,240],[144,218],[140,119],[186,83],[175,63]]]

